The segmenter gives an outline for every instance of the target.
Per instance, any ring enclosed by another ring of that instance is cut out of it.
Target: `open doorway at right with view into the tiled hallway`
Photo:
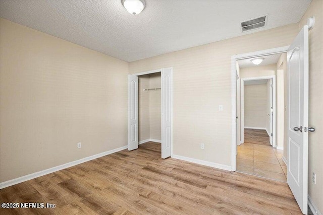
[[[253,59],[261,59],[254,63]],[[287,181],[287,165],[283,161],[284,129],[284,69],[279,69],[286,62],[286,53],[254,56],[237,60],[240,77],[240,94],[237,90],[237,171],[259,177]],[[281,73],[281,74],[279,74]],[[285,73],[287,70],[285,69]],[[283,83],[278,89],[277,82]],[[286,87],[286,86],[285,86]],[[278,106],[277,98],[283,106]],[[241,100],[239,106],[238,99]],[[280,110],[281,117],[277,118]],[[239,115],[238,115],[239,114]]]

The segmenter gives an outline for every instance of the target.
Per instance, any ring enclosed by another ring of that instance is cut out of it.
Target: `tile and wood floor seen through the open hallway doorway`
[[[284,151],[270,146],[266,131],[245,129],[244,144],[238,146],[237,152],[237,171],[287,181]]]

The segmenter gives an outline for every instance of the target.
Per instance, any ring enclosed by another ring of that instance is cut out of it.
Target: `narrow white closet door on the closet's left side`
[[[138,149],[138,77],[128,75],[128,150]]]

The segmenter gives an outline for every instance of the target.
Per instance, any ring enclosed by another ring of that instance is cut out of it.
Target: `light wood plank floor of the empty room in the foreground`
[[[301,214],[286,183],[160,158],[160,144],[104,156],[0,190],[56,208],[1,214]]]

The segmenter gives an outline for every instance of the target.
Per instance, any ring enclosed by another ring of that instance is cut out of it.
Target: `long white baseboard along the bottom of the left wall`
[[[56,166],[56,167],[52,167],[52,168],[42,170],[42,171],[39,171],[39,172],[31,173],[29,175],[25,175],[25,176],[15,178],[15,179],[12,179],[12,180],[9,180],[9,181],[4,181],[4,182],[0,183],[0,189],[3,189],[5,187],[9,187],[9,186],[12,186],[12,185],[15,185],[15,184],[19,184],[21,182],[28,181],[28,180],[31,180],[31,179],[34,179],[34,178],[37,178],[37,177],[40,177],[40,176],[43,176],[43,175],[47,175],[49,173],[57,172],[59,170],[63,170],[63,169],[66,169],[66,168],[69,168],[69,167],[72,167],[72,166],[87,162],[87,161],[91,161],[91,160],[96,159],[96,158],[100,158],[100,157],[103,157],[103,156],[106,156],[106,155],[110,155],[110,154],[125,150],[125,149],[128,149],[128,146],[124,146],[124,147],[120,147],[120,148],[117,148],[117,149],[114,149],[114,150],[102,152],[102,153],[99,153],[99,154],[96,154],[96,155],[92,155],[92,156],[89,156],[89,157],[86,157],[86,158],[82,158],[82,159],[77,160],[77,161],[72,161],[72,162],[69,162],[69,163],[66,163],[66,164],[62,164],[60,166]]]

